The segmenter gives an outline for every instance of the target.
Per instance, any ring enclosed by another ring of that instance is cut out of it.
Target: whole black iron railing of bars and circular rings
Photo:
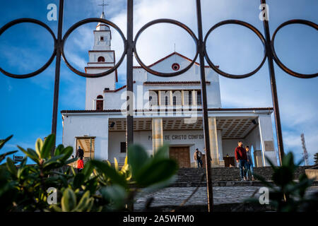
[[[261,4],[266,4],[265,0],[261,0]],[[262,5],[266,9],[266,5]],[[286,25],[290,24],[302,24],[302,25],[307,25],[310,26],[316,30],[318,30],[318,25],[316,23],[313,23],[308,20],[288,20],[285,23],[282,23],[281,25],[276,28],[275,32],[273,32],[273,36],[271,37],[270,32],[269,32],[269,22],[268,20],[264,19],[263,20],[263,25],[264,25],[264,33],[265,37],[261,34],[257,28],[254,28],[253,25],[246,23],[244,21],[240,20],[223,20],[220,23],[217,23],[216,25],[213,25],[213,27],[208,30],[207,34],[205,37],[203,37],[203,32],[202,32],[202,18],[201,18],[201,0],[196,0],[196,19],[197,19],[197,25],[198,25],[198,35],[199,37],[196,37],[194,32],[187,27],[187,25],[184,25],[183,23],[177,21],[177,20],[171,20],[171,19],[159,19],[159,20],[153,20],[146,25],[144,25],[136,34],[136,37],[133,37],[133,10],[134,9],[134,0],[127,0],[127,38],[124,37],[124,34],[122,30],[119,29],[117,25],[112,23],[109,20],[105,20],[102,18],[88,18],[85,20],[81,20],[78,23],[75,23],[69,30],[66,31],[65,35],[62,37],[62,26],[63,26],[63,14],[64,14],[64,0],[59,1],[59,20],[58,20],[58,30],[57,30],[57,37],[55,37],[54,32],[47,26],[45,23],[42,23],[40,20],[35,20],[32,18],[20,18],[17,20],[13,20],[6,25],[4,25],[0,29],[0,35],[6,31],[8,28],[11,28],[13,25],[16,25],[18,23],[35,23],[37,25],[42,26],[45,28],[49,33],[52,35],[54,39],[54,51],[52,53],[52,56],[49,58],[47,63],[43,65],[40,69],[37,71],[34,71],[32,73],[27,73],[23,75],[17,75],[13,73],[9,73],[8,71],[4,71],[0,67],[1,73],[4,73],[6,76],[10,76],[12,78],[30,78],[33,76],[38,75],[39,73],[42,73],[42,71],[45,71],[47,67],[52,63],[54,58],[56,57],[56,65],[55,65],[55,81],[54,81],[54,101],[53,101],[53,114],[52,114],[52,133],[57,133],[57,106],[59,102],[59,73],[60,73],[60,66],[61,66],[61,57],[63,57],[66,65],[73,71],[74,73],[77,73],[79,76],[83,76],[86,78],[97,78],[97,77],[102,77],[106,76],[113,71],[115,71],[120,64],[122,64],[122,61],[124,57],[127,57],[127,62],[126,62],[126,89],[127,89],[127,114],[126,114],[126,141],[128,145],[131,145],[131,143],[134,142],[133,136],[134,136],[134,131],[133,131],[133,113],[134,113],[134,105],[133,105],[133,98],[131,97],[131,93],[133,92],[133,54],[135,55],[136,60],[139,62],[139,64],[148,71],[149,73],[152,73],[156,76],[163,76],[163,77],[171,77],[171,76],[178,76],[185,71],[189,70],[196,59],[199,57],[199,62],[200,62],[200,72],[201,72],[201,99],[202,99],[202,108],[203,108],[203,121],[204,121],[204,143],[206,147],[206,157],[210,155],[210,141],[209,141],[209,136],[208,136],[208,109],[207,109],[207,102],[206,102],[206,76],[205,76],[205,71],[204,71],[204,59],[208,62],[208,65],[211,66],[211,68],[219,73],[221,76],[225,76],[227,78],[247,78],[249,76],[254,75],[254,73],[257,73],[259,69],[264,65],[264,62],[268,61],[269,64],[269,76],[270,76],[270,82],[271,82],[271,95],[273,99],[273,109],[274,109],[274,117],[275,117],[275,124],[276,124],[276,135],[277,135],[277,143],[278,143],[278,151],[280,153],[280,157],[283,157],[284,155],[284,150],[283,150],[283,138],[282,138],[282,132],[281,132],[281,119],[280,119],[280,114],[279,114],[279,107],[278,107],[278,97],[277,97],[277,88],[276,88],[276,78],[275,78],[275,71],[273,68],[273,61],[276,62],[276,64],[286,73],[290,74],[291,76],[295,76],[298,78],[314,78],[318,76],[318,73],[312,73],[312,74],[302,74],[298,73],[295,71],[292,71],[288,69],[287,66],[285,66],[281,60],[278,58],[275,47],[274,47],[274,42],[275,42],[275,37],[276,34],[281,28],[285,27]],[[266,12],[266,11],[265,11]],[[266,13],[264,13],[264,18],[266,17]],[[84,25],[86,23],[92,23],[92,22],[100,22],[100,23],[105,23],[107,25],[112,26],[117,32],[119,32],[119,35],[122,37],[122,40],[124,42],[124,52],[122,54],[122,57],[119,59],[117,64],[112,67],[112,69],[102,72],[102,73],[97,73],[97,74],[88,74],[88,73],[83,73],[81,71],[76,70],[71,64],[69,64],[69,61],[66,59],[66,56],[64,54],[64,44],[71,34],[73,30],[78,28],[81,25]],[[139,36],[141,33],[149,28],[151,25],[155,25],[158,23],[171,23],[174,25],[177,25],[178,27],[184,29],[189,33],[189,35],[192,36],[195,44],[196,44],[196,54],[192,62],[184,69],[177,71],[175,73],[161,73],[158,71],[154,71],[153,69],[150,69],[146,64],[143,64],[143,61],[139,58],[139,54],[136,52],[136,42],[138,41]],[[249,28],[249,30],[252,30],[252,32],[259,37],[259,40],[264,45],[264,58],[261,61],[261,64],[257,66],[254,71],[251,71],[249,73],[245,73],[242,75],[234,75],[230,73],[225,73],[224,71],[221,71],[218,69],[218,67],[213,64],[211,59],[208,57],[208,52],[206,51],[206,40],[208,39],[208,36],[215,30],[216,28],[222,26],[222,25],[227,25],[227,24],[236,24],[236,25],[241,25],[245,26],[246,28]],[[213,208],[213,191],[212,191],[212,183],[211,183],[211,162],[206,161],[207,167],[206,167],[206,183],[207,183],[207,194],[208,194],[208,210],[212,211]]]

